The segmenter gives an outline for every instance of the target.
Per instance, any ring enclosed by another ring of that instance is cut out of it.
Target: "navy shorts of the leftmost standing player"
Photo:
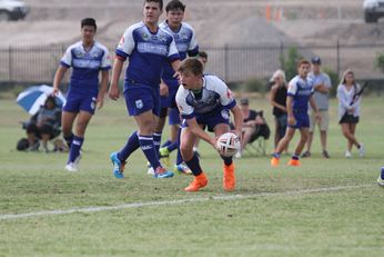
[[[97,95],[81,96],[69,91],[65,105],[62,107],[62,110],[68,112],[79,112],[82,110],[94,115],[97,100]]]

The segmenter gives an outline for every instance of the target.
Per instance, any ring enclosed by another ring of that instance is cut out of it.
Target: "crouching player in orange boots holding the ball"
[[[223,187],[231,191],[235,187],[232,156],[224,148],[216,147],[216,138],[230,131],[230,113],[234,117],[235,140],[240,140],[243,117],[228,86],[216,76],[203,75],[203,65],[194,58],[182,61],[179,68],[181,86],[176,93],[176,103],[183,118],[180,136],[180,150],[186,166],[192,170],[193,181],[185,191],[198,191],[208,184],[208,178],[200,167],[199,158],[193,154],[196,138],[201,138],[215,148],[224,161]],[[213,131],[211,137],[204,131]],[[235,154],[235,152],[234,152]],[[233,155],[234,155],[233,154]]]

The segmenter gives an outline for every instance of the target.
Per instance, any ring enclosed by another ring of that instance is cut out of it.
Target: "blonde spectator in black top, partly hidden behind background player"
[[[284,137],[286,130],[286,80],[285,72],[276,70],[271,79],[273,86],[271,88],[270,102],[273,106],[273,116],[275,120],[274,147]],[[286,145],[284,151],[287,151]]]

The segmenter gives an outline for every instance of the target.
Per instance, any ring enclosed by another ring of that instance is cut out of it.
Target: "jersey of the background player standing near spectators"
[[[306,113],[310,97],[313,93],[313,81],[303,79],[299,75],[290,83],[286,95],[293,98],[293,112]]]

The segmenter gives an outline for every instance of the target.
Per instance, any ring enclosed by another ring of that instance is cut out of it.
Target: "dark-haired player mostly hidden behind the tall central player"
[[[159,24],[159,27],[174,38],[180,59],[183,60],[189,57],[195,57],[199,53],[199,45],[195,39],[193,28],[183,22],[185,6],[179,0],[170,1],[166,7],[166,20]],[[174,70],[170,65],[165,65],[162,81],[160,83],[161,95],[161,111],[159,121],[154,129],[153,141],[156,150],[161,144],[161,136],[164,129],[168,111],[170,110],[169,123],[171,128],[171,141],[169,145],[160,149],[160,158],[164,165],[170,167],[170,152],[179,148],[179,128],[180,128],[180,113],[175,103],[175,96],[179,89],[178,78],[174,77]],[[191,174],[191,171],[182,164],[180,152],[178,154],[175,170],[183,174]]]

